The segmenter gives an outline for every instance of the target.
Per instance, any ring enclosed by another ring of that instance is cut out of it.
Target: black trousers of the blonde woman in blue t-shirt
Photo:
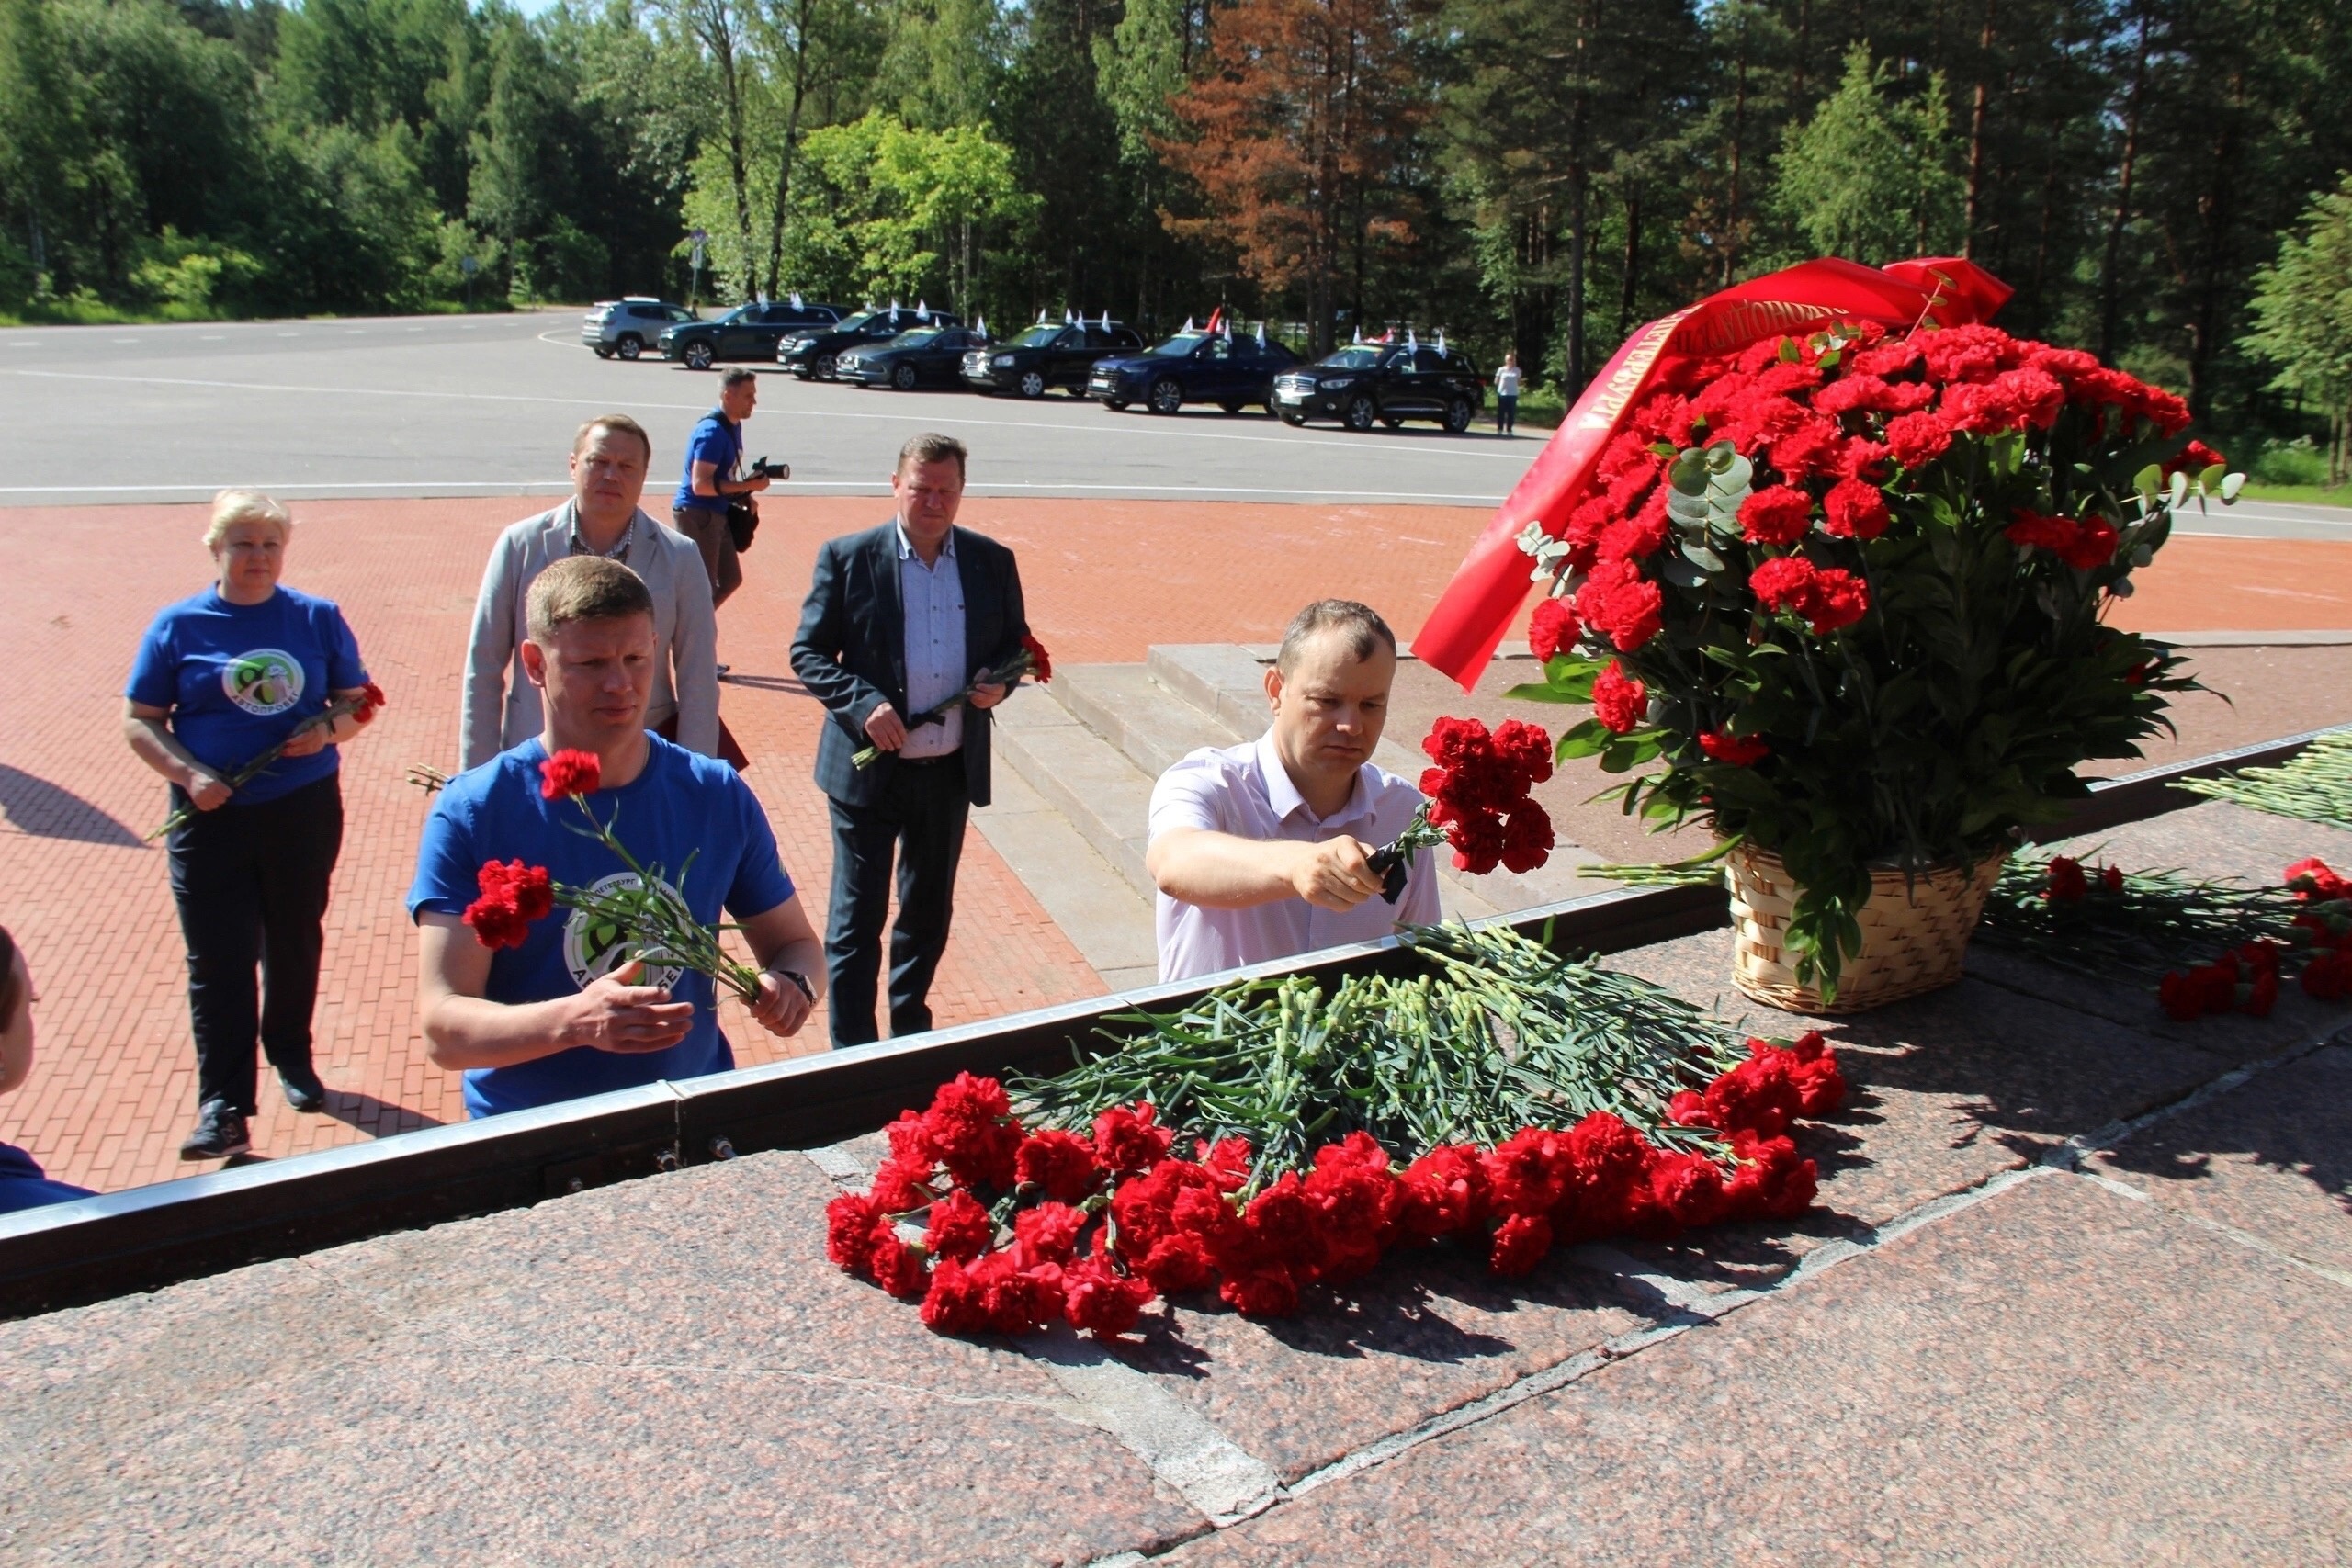
[[[174,785],[172,809],[186,804]],[[188,940],[198,1105],[226,1100],[254,1114],[256,1037],[273,1067],[310,1065],[327,884],[341,849],[339,776],[256,806],[198,811],[172,832],[172,898]]]

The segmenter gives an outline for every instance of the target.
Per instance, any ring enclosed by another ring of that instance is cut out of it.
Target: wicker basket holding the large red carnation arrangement
[[[1872,872],[1870,903],[1860,912],[1863,950],[1846,959],[1837,1001],[1823,1001],[1818,987],[1797,983],[1780,952],[1797,884],[1778,856],[1740,844],[1724,856],[1736,931],[1731,980],[1764,1006],[1790,1013],[1863,1013],[1940,990],[1959,980],[1969,933],[1983,919],[1999,875],[1999,856],[1987,856],[1973,877],[1957,865],[1907,879],[1903,872]]]

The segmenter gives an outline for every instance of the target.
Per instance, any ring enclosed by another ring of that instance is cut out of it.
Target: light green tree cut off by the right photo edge
[[[2352,174],[2279,235],[2279,259],[2253,275],[2246,353],[2277,367],[2270,386],[2328,418],[2328,484],[2343,484],[2352,425]]]

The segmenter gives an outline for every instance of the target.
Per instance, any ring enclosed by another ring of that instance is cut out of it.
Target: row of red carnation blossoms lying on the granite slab
[[[1411,1159],[1355,1131],[1277,1173],[1244,1138],[1195,1138],[1181,1154],[1150,1103],[1103,1110],[1089,1131],[1025,1128],[1002,1084],[964,1072],[889,1124],[870,1190],[826,1208],[826,1255],[920,1300],[938,1333],[1068,1321],[1117,1338],[1155,1298],[1195,1291],[1289,1316],[1305,1286],[1348,1284],[1399,1248],[1468,1246],[1494,1274],[1522,1276],[1552,1246],[1795,1218],[1818,1175],[1790,1128],[1844,1093],[1820,1034],[1750,1039],[1748,1060],[1665,1112],[1729,1164],[1592,1112]]]

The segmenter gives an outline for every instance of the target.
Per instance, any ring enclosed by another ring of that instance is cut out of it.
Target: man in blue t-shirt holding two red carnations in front
[[[609,823],[696,922],[724,907],[760,969],[753,1018],[797,1034],[826,966],[807,910],[776,858],[776,835],[724,762],[644,729],[654,602],[628,567],[597,555],[548,564],[524,602],[522,670],[546,703],[546,731],[449,780],[416,849],[409,914],[419,926],[416,1011],[433,1060],[466,1072],[466,1112],[489,1117],[555,1100],[734,1067],[708,976],[647,969],[579,910],[532,922],[520,947],[489,950],[461,919],[485,860],[543,865],[557,884],[630,882],[588,837],[572,797],[543,799],[539,764],[595,752],[588,809]]]

